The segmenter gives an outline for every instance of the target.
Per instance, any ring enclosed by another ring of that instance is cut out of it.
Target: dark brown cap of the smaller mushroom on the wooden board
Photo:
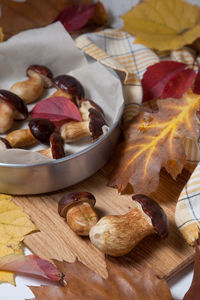
[[[65,194],[58,203],[58,213],[61,217],[65,217],[70,207],[79,204],[81,202],[87,202],[92,207],[96,203],[95,197],[89,192],[71,192]]]

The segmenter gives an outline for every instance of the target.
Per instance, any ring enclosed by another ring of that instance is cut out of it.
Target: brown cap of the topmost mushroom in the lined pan
[[[53,74],[49,68],[42,65],[31,65],[27,68],[26,74],[31,77],[34,73],[40,75],[44,82],[44,87],[50,88],[53,85]]]

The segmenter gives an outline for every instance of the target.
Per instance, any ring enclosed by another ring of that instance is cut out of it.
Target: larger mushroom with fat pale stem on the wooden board
[[[149,234],[160,238],[168,235],[168,221],[163,209],[145,195],[132,197],[137,207],[121,216],[105,216],[93,226],[89,237],[92,244],[103,253],[122,256]]]

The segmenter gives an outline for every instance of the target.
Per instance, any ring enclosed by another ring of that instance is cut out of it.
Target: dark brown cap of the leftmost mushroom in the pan
[[[0,90],[0,101],[8,103],[13,108],[15,120],[25,120],[28,117],[28,109],[19,96],[7,90]]]

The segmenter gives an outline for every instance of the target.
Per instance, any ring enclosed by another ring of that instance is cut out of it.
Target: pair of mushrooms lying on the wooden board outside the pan
[[[58,203],[58,213],[78,235],[89,235],[91,243],[105,254],[122,256],[129,253],[146,236],[156,233],[168,236],[165,212],[145,195],[132,197],[136,207],[125,215],[105,216],[98,221],[95,197],[88,192],[65,194]]]

